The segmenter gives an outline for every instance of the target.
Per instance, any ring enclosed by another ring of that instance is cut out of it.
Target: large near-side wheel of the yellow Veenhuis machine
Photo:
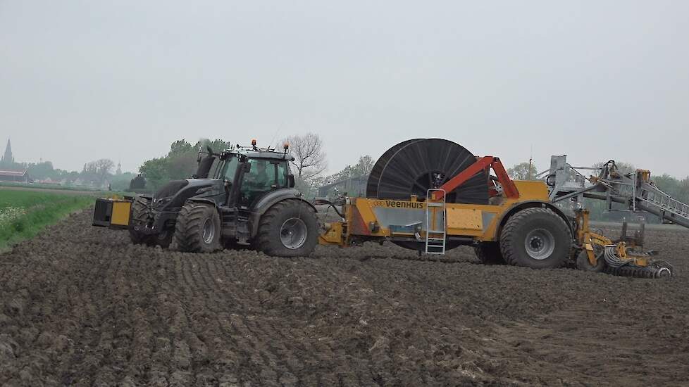
[[[571,255],[569,226],[552,210],[527,208],[509,217],[500,234],[505,262],[532,269],[563,266]]]

